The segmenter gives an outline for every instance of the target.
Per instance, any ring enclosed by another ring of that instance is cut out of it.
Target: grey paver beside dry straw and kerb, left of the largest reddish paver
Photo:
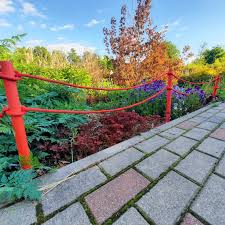
[[[75,175],[42,197],[44,214],[54,212],[104,181],[105,175],[96,166]]]

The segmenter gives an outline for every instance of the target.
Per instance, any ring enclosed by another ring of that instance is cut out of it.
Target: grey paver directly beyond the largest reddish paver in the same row
[[[148,177],[156,179],[178,159],[179,156],[161,149],[140,162],[136,168],[146,174]]]

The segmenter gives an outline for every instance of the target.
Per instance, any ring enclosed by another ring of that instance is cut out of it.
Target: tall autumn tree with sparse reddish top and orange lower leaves
[[[143,79],[166,79],[169,68],[179,71],[181,59],[171,59],[164,32],[157,31],[150,18],[151,0],[137,0],[137,8],[128,24],[127,7],[121,8],[119,24],[115,17],[111,27],[104,28],[104,42],[113,57],[113,80],[119,85],[133,85]]]

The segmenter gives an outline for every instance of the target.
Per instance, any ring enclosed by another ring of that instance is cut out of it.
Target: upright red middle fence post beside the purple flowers
[[[167,93],[166,93],[166,123],[171,120],[171,106],[172,106],[172,89],[173,89],[173,72],[170,70],[167,73]]]

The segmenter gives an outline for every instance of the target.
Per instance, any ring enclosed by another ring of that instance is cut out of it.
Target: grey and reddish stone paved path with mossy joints
[[[58,185],[40,202],[0,209],[1,225],[225,225],[225,103],[77,161],[40,182]]]

